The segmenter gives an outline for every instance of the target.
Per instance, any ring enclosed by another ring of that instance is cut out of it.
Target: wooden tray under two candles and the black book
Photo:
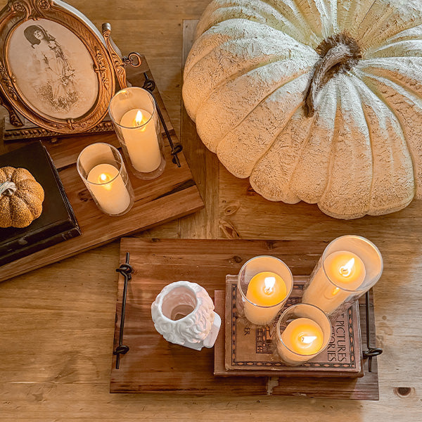
[[[143,72],[146,72],[148,77],[153,79],[144,58],[140,68],[128,72],[128,79],[132,84],[142,86]],[[176,143],[178,141],[177,136],[158,89],[155,89],[154,96],[162,110],[172,141]],[[164,132],[162,131],[162,133]],[[27,142],[3,142],[0,145],[0,153],[11,151]],[[167,139],[165,139],[167,164],[164,173],[158,179],[143,181],[129,172],[135,192],[134,207],[122,217],[110,217],[103,214],[96,207],[76,169],[76,160],[79,153],[85,146],[95,142],[107,142],[116,147],[120,146],[114,133],[42,140],[59,172],[77,222],[82,230],[82,236],[1,266],[0,281],[24,274],[32,269],[44,267],[44,265],[63,260],[84,250],[96,248],[113,241],[115,238],[149,229],[157,224],[183,217],[203,208],[203,200],[200,198],[184,154],[179,153],[181,167],[177,167],[172,162],[171,148]]]

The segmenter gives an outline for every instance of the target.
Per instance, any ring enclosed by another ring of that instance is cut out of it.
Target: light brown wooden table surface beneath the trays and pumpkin
[[[370,238],[385,261],[374,289],[376,342],[384,349],[380,401],[239,398],[236,391],[222,397],[110,395],[115,242],[0,284],[0,421],[420,421],[422,201],[385,217],[339,221],[314,205],[269,203],[220,167],[180,106],[184,20],[198,19],[207,2],[69,1],[97,27],[110,22],[124,53],[146,55],[174,127],[183,128],[181,141],[206,203],[196,215],[139,236]]]

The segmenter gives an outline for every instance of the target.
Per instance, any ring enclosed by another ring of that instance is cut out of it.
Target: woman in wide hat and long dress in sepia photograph
[[[30,25],[24,34],[41,64],[44,81],[38,87],[39,94],[54,108],[69,111],[78,101],[75,69],[60,44],[41,25]]]

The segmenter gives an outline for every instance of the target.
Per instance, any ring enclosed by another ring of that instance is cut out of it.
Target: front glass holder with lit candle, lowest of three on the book
[[[326,350],[331,322],[318,307],[299,303],[281,314],[275,338],[280,359],[289,366],[298,366]]]

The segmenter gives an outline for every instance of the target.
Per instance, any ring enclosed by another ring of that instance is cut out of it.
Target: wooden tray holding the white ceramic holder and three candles
[[[177,280],[200,283],[213,297],[215,290],[225,289],[226,274],[236,274],[251,257],[273,255],[286,262],[293,275],[310,274],[325,247],[326,243],[322,241],[122,238],[120,262],[123,263],[126,252],[130,252],[130,264],[134,268],[127,291],[123,337],[123,343],[130,349],[120,358],[120,369],[115,369],[113,357],[110,392],[378,399],[376,359],[370,373],[368,362],[364,362],[365,376],[362,378],[319,378],[315,381],[312,378],[216,377],[213,375],[214,350],[204,348],[197,352],[167,343],[153,326],[151,303],[168,283]],[[119,338],[122,289],[123,277],[119,276],[113,350]],[[364,307],[359,308],[361,318],[364,318]],[[365,334],[363,330],[362,339]],[[218,338],[222,335],[224,331],[220,331]],[[373,317],[371,335],[375,338]],[[366,347],[364,340],[362,343],[362,347]]]

